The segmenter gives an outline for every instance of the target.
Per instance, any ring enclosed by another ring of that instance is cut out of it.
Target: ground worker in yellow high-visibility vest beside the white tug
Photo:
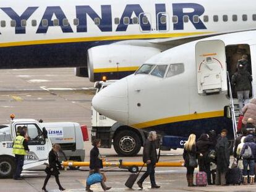
[[[14,173],[14,180],[21,180],[20,173],[22,172],[24,157],[27,154],[28,149],[27,140],[25,140],[25,132],[20,130],[19,135],[14,139],[12,153],[15,154],[16,170]]]

